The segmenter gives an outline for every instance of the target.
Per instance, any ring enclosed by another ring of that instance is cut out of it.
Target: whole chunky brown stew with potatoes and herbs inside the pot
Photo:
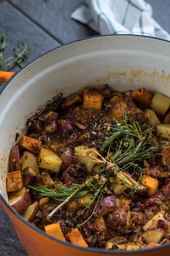
[[[51,236],[131,250],[170,241],[170,98],[57,95],[11,148],[9,204]]]

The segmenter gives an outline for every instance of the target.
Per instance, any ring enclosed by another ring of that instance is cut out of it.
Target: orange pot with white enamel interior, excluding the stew
[[[81,93],[85,86],[108,83],[114,90],[145,87],[170,97],[170,42],[132,35],[108,35],[86,38],[53,49],[17,72],[4,86],[0,96],[0,200],[13,223],[23,246],[31,256],[45,256],[44,249],[32,251],[34,242],[23,241],[28,232],[19,230],[17,222],[34,234],[47,237],[53,255],[168,255],[169,245],[134,252],[82,249],[65,244],[32,227],[8,205],[6,177],[10,171],[10,149],[25,131],[26,121],[59,93]],[[17,135],[19,137],[17,138]],[[17,226],[17,227],[16,227]],[[50,242],[51,241],[51,242]],[[52,243],[53,242],[53,243]],[[60,250],[60,245],[62,250]],[[42,247],[43,247],[42,246]],[[55,246],[58,254],[54,254]],[[64,248],[64,250],[63,250]],[[135,253],[135,254],[134,254]]]

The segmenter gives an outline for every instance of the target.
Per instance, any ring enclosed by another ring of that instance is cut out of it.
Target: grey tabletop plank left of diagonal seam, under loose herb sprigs
[[[23,41],[27,43],[28,49],[31,48],[27,62],[60,45],[56,39],[23,15],[21,11],[11,6],[9,2],[0,3],[0,11],[0,34],[5,34],[7,37],[3,54],[4,59],[13,56],[13,47],[15,45],[20,45],[21,51],[23,49]],[[19,69],[19,66],[15,66],[10,71],[15,72]],[[2,86],[2,83],[0,83],[0,88]]]

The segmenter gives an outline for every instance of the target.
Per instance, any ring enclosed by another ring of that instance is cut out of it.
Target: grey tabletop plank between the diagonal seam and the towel
[[[61,44],[97,35],[86,25],[70,18],[83,0],[10,0],[24,14],[53,35]]]

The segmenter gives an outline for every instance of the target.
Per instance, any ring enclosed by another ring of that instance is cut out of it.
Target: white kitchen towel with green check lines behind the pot
[[[99,34],[136,34],[170,40],[170,35],[152,17],[144,0],[85,0],[71,18]]]

